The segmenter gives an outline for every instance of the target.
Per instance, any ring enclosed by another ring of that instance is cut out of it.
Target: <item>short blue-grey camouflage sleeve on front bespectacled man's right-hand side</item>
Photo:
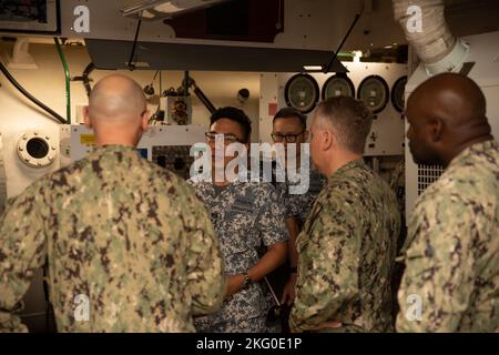
[[[277,192],[272,185],[265,185],[265,195],[257,219],[263,243],[266,246],[284,243],[288,240],[284,222],[285,209],[278,203]]]

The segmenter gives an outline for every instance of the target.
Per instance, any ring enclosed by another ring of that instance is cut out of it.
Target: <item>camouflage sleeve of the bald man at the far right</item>
[[[472,206],[446,194],[419,203],[409,223],[398,291],[398,332],[455,332],[473,290]],[[449,223],[452,221],[451,223]]]

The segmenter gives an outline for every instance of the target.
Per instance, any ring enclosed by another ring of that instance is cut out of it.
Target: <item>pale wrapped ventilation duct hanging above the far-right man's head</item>
[[[459,72],[469,45],[450,33],[442,0],[393,0],[395,20],[422,60],[429,75]]]

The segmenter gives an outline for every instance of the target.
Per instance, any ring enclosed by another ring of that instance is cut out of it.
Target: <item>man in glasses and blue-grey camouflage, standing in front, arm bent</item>
[[[217,110],[206,133],[214,155],[216,134],[224,143],[249,140],[249,119],[234,108]],[[226,166],[232,156],[224,156]],[[215,159],[213,160],[214,163]],[[247,173],[247,172],[246,172]],[[284,262],[287,233],[284,210],[269,183],[237,178],[235,181],[213,182],[194,176],[190,183],[204,201],[221,243],[227,275],[227,293],[218,312],[195,320],[198,332],[267,332],[266,317],[273,305],[262,278]],[[262,244],[266,251],[259,255]]]

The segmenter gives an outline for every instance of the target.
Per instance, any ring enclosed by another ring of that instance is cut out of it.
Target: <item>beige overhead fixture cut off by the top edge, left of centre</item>
[[[231,0],[123,0],[124,17],[144,20],[167,19]]]

